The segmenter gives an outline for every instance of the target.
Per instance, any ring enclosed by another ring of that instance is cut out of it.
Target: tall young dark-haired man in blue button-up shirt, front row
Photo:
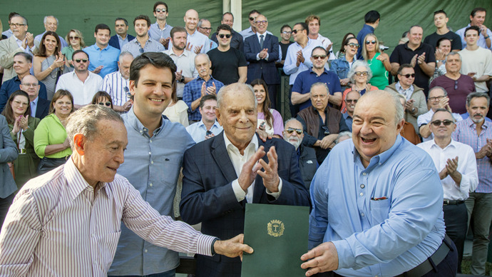
[[[185,150],[195,144],[183,125],[163,116],[172,101],[176,66],[163,53],[147,52],[130,66],[133,106],[123,121],[128,131],[125,162],[118,173],[161,215],[174,216],[173,199]],[[144,83],[145,82],[145,83]],[[124,224],[109,276],[175,276],[178,253],[153,246]]]

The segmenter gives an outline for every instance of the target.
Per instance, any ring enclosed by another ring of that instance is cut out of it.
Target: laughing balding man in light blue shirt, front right
[[[311,184],[306,276],[456,276],[445,237],[443,188],[432,158],[403,139],[403,106],[369,91],[354,110],[353,137],[329,153]],[[444,240],[443,240],[444,239]],[[315,247],[316,246],[316,247]],[[451,251],[450,251],[451,249]]]

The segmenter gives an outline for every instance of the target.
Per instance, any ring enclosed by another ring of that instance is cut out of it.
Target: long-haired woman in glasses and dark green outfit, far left
[[[34,153],[34,130],[39,119],[31,117],[29,95],[25,91],[14,91],[7,100],[4,111],[10,135],[16,143],[19,156],[14,161],[17,188],[37,176],[39,157]]]

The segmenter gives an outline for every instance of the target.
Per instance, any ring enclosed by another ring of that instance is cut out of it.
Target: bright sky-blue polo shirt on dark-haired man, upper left
[[[105,49],[101,50],[94,44],[83,49],[83,51],[89,55],[89,71],[93,71],[98,66],[104,66],[98,74],[104,78],[104,76],[118,70],[119,49],[108,44]]]

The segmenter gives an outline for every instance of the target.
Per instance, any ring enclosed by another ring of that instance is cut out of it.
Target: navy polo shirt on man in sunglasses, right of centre
[[[340,86],[340,80],[338,79],[337,74],[324,69],[323,73],[318,76],[312,71],[312,68],[307,71],[302,71],[297,75],[294,86],[292,86],[292,91],[298,92],[299,94],[309,94],[312,84],[318,82],[327,84],[330,95],[333,95],[335,92],[342,92],[342,86]],[[331,104],[329,105],[332,106]],[[304,103],[299,104],[299,111],[306,109],[309,106],[312,106],[311,101],[305,101]]]

